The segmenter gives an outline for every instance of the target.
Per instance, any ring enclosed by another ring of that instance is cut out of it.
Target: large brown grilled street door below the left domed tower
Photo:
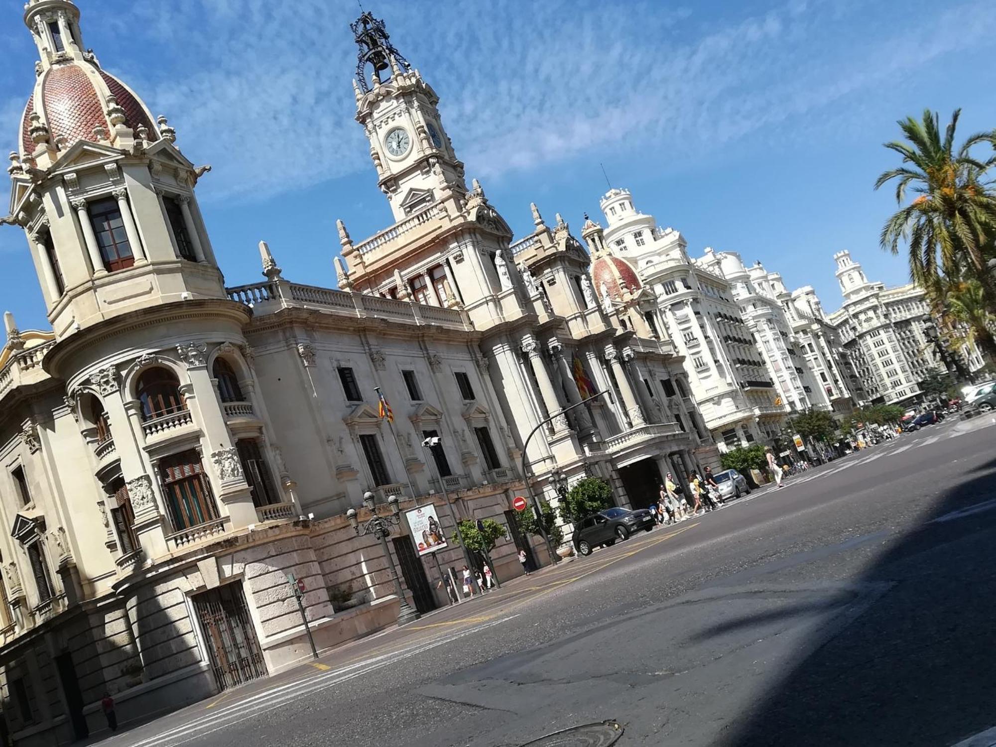
[[[218,689],[265,677],[266,662],[242,585],[226,584],[192,599]]]

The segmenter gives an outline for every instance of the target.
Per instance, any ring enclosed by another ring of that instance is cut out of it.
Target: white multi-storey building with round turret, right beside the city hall
[[[601,207],[607,251],[615,266],[628,268],[630,284],[652,291],[716,445],[725,451],[774,435],[787,408],[777,403],[778,389],[730,283],[691,260],[678,231],[658,228],[652,215],[637,211],[628,190],[610,189]],[[604,300],[612,289],[600,282],[598,268],[595,289]]]

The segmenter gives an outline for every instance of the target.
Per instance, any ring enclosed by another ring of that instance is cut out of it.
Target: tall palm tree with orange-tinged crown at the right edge
[[[898,122],[906,142],[885,147],[899,153],[904,165],[884,171],[874,188],[894,179],[899,205],[907,187],[918,196],[885,221],[879,238],[892,254],[899,253],[900,241],[908,243],[910,274],[928,293],[938,295],[945,276],[972,277],[981,284],[986,305],[996,309],[996,282],[986,266],[996,238],[996,192],[986,177],[996,156],[980,160],[971,152],[983,143],[996,147],[996,130],[970,135],[955,151],[960,114],[955,110],[943,137],[930,110],[922,122],[912,117]]]

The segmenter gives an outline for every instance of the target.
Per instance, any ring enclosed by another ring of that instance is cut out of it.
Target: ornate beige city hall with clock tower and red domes
[[[640,506],[665,472],[715,463],[652,294],[616,265],[593,288],[592,221],[586,249],[533,205],[513,241],[370,14],[357,120],[394,222],[357,241],[339,223],[336,290],[285,278],[265,243],[261,281],[226,288],[191,160],[210,154],[101,67],[72,2],[31,0],[24,21],[39,59],[4,222],[51,329],[7,315],[0,355],[0,728],[17,744],[103,727],[105,692],[127,721],[309,656],[288,574],[320,648],[395,622],[391,567],[411,605],[442,604],[403,522],[389,559],[350,526],[369,491],[435,503],[446,530],[444,493],[507,524],[501,577],[520,549],[547,561],[514,521],[523,456],[547,499],[601,475]]]

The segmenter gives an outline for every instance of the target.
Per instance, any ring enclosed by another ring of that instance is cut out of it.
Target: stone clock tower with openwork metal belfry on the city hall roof
[[[394,49],[383,22],[364,13],[351,27],[359,47],[357,122],[395,220],[467,191],[463,163],[442,126],[439,97]]]

